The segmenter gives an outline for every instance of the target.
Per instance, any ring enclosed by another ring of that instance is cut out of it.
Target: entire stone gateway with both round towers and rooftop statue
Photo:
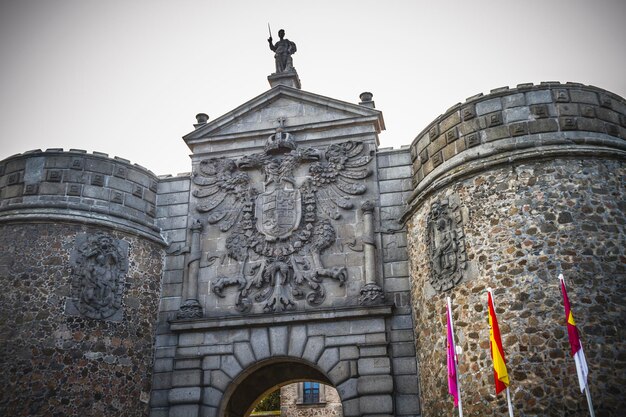
[[[0,161],[0,414],[244,417],[286,387],[295,415],[322,386],[327,415],[452,415],[451,297],[464,411],[504,415],[492,288],[516,414],[585,416],[562,271],[596,415],[619,415],[626,101],[521,84],[381,149],[372,94],[302,90],[279,35],[270,89],[184,136],[190,174]]]

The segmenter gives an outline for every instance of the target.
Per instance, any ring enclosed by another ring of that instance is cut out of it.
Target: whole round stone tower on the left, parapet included
[[[156,188],[105,154],[0,161],[0,414],[148,414]]]

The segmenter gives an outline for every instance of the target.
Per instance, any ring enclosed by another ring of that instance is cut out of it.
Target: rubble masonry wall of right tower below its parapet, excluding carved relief
[[[486,288],[496,311],[516,414],[588,415],[565,327],[560,263],[589,364],[597,416],[626,407],[626,164],[563,158],[500,166],[427,197],[409,223],[412,300],[423,416],[450,415],[445,304],[452,297],[463,411],[506,413],[495,396]],[[433,201],[464,208],[468,267],[451,291],[428,283],[426,218]]]

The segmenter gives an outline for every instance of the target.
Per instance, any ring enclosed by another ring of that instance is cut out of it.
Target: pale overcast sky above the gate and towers
[[[505,85],[626,96],[625,0],[0,0],[0,159],[79,148],[189,171],[195,115],[269,89],[268,23],[297,44],[303,90],[374,94],[384,147]]]

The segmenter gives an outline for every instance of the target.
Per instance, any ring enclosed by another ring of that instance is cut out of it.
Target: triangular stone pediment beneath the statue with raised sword
[[[382,113],[376,109],[280,85],[198,126],[183,139],[193,149],[207,141],[267,136],[279,126],[279,119],[291,132],[355,124],[371,125],[375,133],[385,129]]]

